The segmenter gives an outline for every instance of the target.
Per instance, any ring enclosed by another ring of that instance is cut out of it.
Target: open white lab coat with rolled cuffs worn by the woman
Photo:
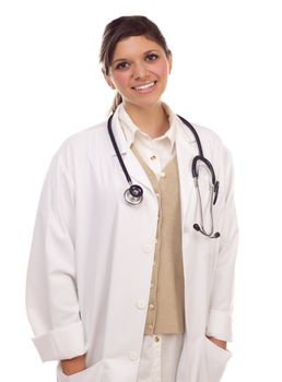
[[[232,159],[220,139],[196,127],[220,180],[214,207],[219,239],[197,232],[200,223],[191,160],[195,138],[177,122],[186,332],[177,382],[218,382],[231,353],[205,337],[232,339],[237,247]],[[157,198],[127,146],[117,112],[113,131],[140,205],[125,203],[128,187],[106,122],[68,139],[45,179],[30,258],[26,306],[43,361],[87,353],[87,369],[60,382],[136,382],[146,318],[157,227]],[[200,170],[205,226],[209,174]],[[59,363],[58,363],[59,365]]]

